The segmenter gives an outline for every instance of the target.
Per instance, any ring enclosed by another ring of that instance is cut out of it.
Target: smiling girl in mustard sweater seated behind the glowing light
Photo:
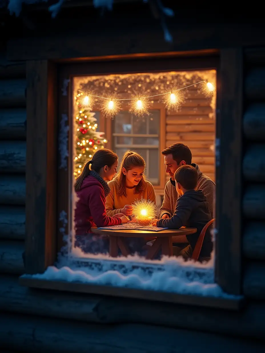
[[[111,192],[106,198],[106,211],[109,217],[122,213],[132,215],[132,203],[136,199],[153,201],[156,194],[153,185],[144,177],[145,160],[136,152],[127,151],[122,157],[116,177],[108,183]]]

